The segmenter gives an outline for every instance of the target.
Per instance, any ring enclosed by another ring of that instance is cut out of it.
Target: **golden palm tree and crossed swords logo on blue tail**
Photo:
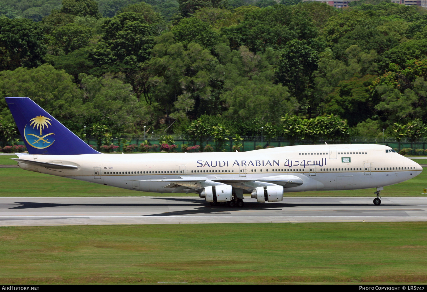
[[[38,117],[32,118],[29,121],[31,122],[29,124],[29,127],[26,127],[28,126],[27,124],[24,128],[24,136],[25,140],[30,146],[38,149],[44,149],[52,145],[53,142],[55,142],[55,140],[49,141],[49,138],[46,139],[46,137],[50,135],[55,135],[54,133],[44,134],[42,136],[42,130],[44,130],[44,128],[49,128],[49,125],[52,126],[52,124],[49,122],[51,121],[51,119],[40,115]],[[40,134],[38,133],[38,131],[40,131]]]

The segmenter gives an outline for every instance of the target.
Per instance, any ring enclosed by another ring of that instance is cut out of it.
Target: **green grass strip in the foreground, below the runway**
[[[420,283],[427,222],[0,227],[0,282]]]

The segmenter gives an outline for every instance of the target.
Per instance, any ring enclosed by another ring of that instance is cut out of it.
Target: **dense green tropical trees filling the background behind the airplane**
[[[144,129],[164,137],[157,148],[165,151],[175,151],[173,134],[196,146],[213,140],[216,151],[239,150],[235,135],[311,142],[377,138],[383,129],[411,142],[427,135],[420,7],[389,0],[347,9],[300,0],[0,4],[0,94],[29,96],[80,137],[97,137],[98,149]],[[0,99],[3,146],[17,133]],[[156,149],[125,146],[132,148]]]

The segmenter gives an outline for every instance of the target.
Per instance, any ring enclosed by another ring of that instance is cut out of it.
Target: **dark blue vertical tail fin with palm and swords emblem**
[[[29,154],[99,153],[28,97],[6,97]]]

